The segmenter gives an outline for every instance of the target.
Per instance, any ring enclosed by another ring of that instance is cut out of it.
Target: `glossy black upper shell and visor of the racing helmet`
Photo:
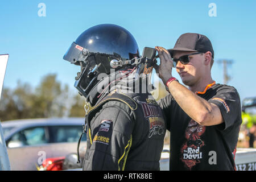
[[[86,49],[82,51],[82,49]],[[103,63],[106,73],[109,73],[111,60],[105,58],[114,57],[115,59],[131,60],[139,57],[139,48],[133,35],[125,28],[115,24],[99,24],[88,28],[72,43],[65,53],[63,59],[79,65],[83,57],[81,55],[101,55],[96,56],[97,63]],[[104,61],[107,61],[106,63]]]

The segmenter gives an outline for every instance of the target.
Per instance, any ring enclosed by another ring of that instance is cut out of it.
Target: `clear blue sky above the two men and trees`
[[[39,3],[46,5],[45,17],[38,16]],[[216,4],[216,17],[208,15],[210,3]],[[228,69],[232,77],[228,84],[237,88],[241,99],[253,97],[256,96],[255,9],[256,1],[250,0],[2,0],[0,54],[10,55],[3,87],[14,88],[18,80],[36,86],[47,73],[56,73],[58,80],[73,88],[80,68],[64,61],[64,53],[87,28],[113,23],[133,34],[141,53],[146,46],[172,48],[185,32],[207,35],[215,53],[213,79],[223,82],[222,66],[217,60],[233,60]]]

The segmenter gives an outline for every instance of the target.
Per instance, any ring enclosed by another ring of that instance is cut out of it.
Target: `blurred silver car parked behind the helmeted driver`
[[[84,118],[20,119],[1,122],[11,170],[36,170],[47,158],[77,152]],[[86,134],[80,156],[86,150]]]

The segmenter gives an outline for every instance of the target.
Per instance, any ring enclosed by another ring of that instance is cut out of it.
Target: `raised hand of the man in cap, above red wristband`
[[[169,78],[172,77],[172,59],[169,51],[163,47],[156,46],[155,49],[158,51],[160,58],[160,65],[155,65],[155,71],[159,74],[163,83],[166,84]]]

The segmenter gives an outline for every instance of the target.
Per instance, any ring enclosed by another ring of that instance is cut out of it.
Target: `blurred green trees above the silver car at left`
[[[61,85],[56,74],[48,74],[33,89],[29,84],[18,81],[16,88],[3,88],[0,103],[0,119],[65,117],[73,96],[68,85]]]

